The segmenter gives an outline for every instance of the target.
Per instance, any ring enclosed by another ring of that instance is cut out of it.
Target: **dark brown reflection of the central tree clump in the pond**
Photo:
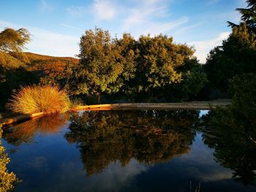
[[[71,118],[67,140],[77,142],[87,174],[131,158],[156,164],[189,152],[195,111],[83,112]]]

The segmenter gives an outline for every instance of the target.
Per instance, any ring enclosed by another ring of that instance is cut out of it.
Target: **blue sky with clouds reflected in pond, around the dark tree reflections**
[[[200,117],[208,110],[200,112]],[[234,182],[232,172],[214,161],[214,150],[200,133],[189,153],[164,164],[148,166],[132,158],[126,166],[116,161],[99,174],[86,175],[80,150],[64,138],[68,125],[55,134],[37,134],[33,142],[15,147],[3,141],[19,179],[16,191],[255,191]]]

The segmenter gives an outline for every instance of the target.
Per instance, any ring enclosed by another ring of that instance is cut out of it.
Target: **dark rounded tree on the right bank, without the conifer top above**
[[[232,34],[208,55],[205,65],[208,80],[222,91],[227,91],[228,81],[234,76],[256,72],[256,39],[246,25],[233,28]]]

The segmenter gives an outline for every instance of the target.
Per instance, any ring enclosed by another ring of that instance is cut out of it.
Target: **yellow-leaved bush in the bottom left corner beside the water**
[[[1,125],[0,125],[0,191],[7,192],[12,191],[13,183],[17,181],[17,177],[13,172],[8,172],[7,164],[10,162],[10,158],[7,158],[4,147],[1,145]]]

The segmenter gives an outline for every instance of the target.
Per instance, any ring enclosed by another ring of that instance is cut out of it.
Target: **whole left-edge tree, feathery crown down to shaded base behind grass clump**
[[[0,106],[20,85],[38,81],[36,75],[25,68],[29,60],[22,50],[29,40],[30,34],[25,28],[17,31],[5,28],[0,33]]]

